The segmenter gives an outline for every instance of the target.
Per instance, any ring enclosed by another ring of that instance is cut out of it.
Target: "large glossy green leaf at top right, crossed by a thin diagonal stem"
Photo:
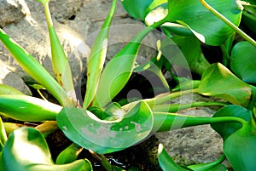
[[[236,0],[223,0],[221,2],[209,0],[207,3],[220,14],[223,14],[236,26],[240,24],[240,2]],[[224,43],[224,41],[234,33],[230,26],[227,26],[222,20],[218,19],[217,16],[204,8],[199,0],[169,0],[167,9],[160,11],[160,14],[162,15],[161,18],[166,17],[166,21],[168,22],[176,21],[177,23],[188,27],[202,43],[218,46],[219,44]],[[155,16],[159,17],[159,14]],[[158,18],[156,20],[160,19]],[[148,19],[148,25],[155,21],[152,17],[150,20]]]

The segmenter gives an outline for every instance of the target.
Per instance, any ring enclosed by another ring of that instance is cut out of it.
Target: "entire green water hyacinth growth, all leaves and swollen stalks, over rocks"
[[[242,14],[240,1],[148,0],[137,4],[135,0],[123,0],[128,14],[145,21],[148,26],[104,66],[108,32],[117,4],[117,0],[113,0],[91,48],[83,103],[79,103],[73,88],[71,68],[51,20],[49,0],[38,2],[43,4],[46,14],[55,77],[2,29],[0,40],[23,70],[53,94],[60,105],[0,85],[0,112],[4,117],[40,123],[35,128],[18,128],[15,123],[0,120],[0,170],[92,170],[89,160],[79,158],[83,149],[95,155],[106,170],[125,170],[111,165],[104,154],[122,151],[146,140],[155,132],[201,124],[210,124],[222,136],[224,155],[214,162],[183,167],[173,162],[163,145],[160,145],[158,159],[163,170],[227,170],[222,164],[224,158],[238,171],[249,171],[256,167],[253,161],[256,157],[256,99],[252,75],[255,68],[247,62],[253,60],[256,45],[237,27]],[[166,39],[158,42],[158,52],[153,59],[137,66],[137,53],[143,38],[159,27]],[[230,37],[236,32],[246,41],[233,47]],[[224,65],[210,64],[201,51],[201,43],[221,46]],[[243,65],[240,65],[241,62]],[[173,73],[174,65],[191,69],[201,76],[201,80],[179,77]],[[125,103],[114,101],[131,74],[140,71],[152,71],[159,77],[164,85],[164,93],[151,99],[125,100]],[[163,71],[170,72],[177,81],[177,87],[168,86]],[[170,104],[174,98],[193,93],[218,97],[222,101]],[[212,117],[191,117],[177,113],[207,105],[221,108]],[[61,151],[53,161],[45,137],[56,129],[61,129],[73,144]]]

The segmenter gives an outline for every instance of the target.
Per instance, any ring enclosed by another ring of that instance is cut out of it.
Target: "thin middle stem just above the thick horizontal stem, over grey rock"
[[[153,107],[153,111],[156,112],[177,112],[185,109],[189,109],[191,107],[201,107],[201,106],[210,106],[210,105],[228,105],[224,102],[217,101],[195,101],[187,104],[165,104],[165,105],[155,105]]]

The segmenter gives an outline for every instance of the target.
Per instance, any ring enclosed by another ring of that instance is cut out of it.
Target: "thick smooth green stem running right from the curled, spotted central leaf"
[[[242,125],[247,124],[245,120],[239,117],[194,117],[177,113],[154,112],[154,127],[152,131],[164,132],[203,124],[231,122],[241,123]]]

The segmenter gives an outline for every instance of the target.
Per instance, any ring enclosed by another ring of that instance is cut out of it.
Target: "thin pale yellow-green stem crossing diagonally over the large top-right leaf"
[[[234,25],[230,20],[224,17],[223,14],[218,13],[216,9],[213,9],[207,2],[204,0],[200,0],[201,4],[212,12],[212,14],[215,14],[218,16],[220,20],[223,20],[224,23],[226,23],[228,26],[230,26],[234,31],[236,31],[237,34],[239,34],[241,37],[243,37],[245,40],[247,40],[249,43],[253,44],[254,47],[256,47],[256,42],[253,40],[252,37],[249,37],[244,31],[241,31],[240,28],[238,28],[236,25]]]

